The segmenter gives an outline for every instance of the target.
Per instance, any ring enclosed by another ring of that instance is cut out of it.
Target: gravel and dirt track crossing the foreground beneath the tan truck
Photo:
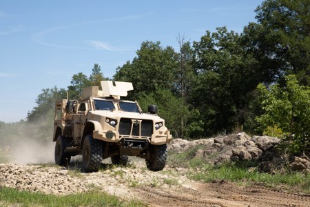
[[[149,206],[310,206],[310,195],[229,181],[199,183],[189,179],[189,171],[183,168],[152,172],[143,161],[128,167],[104,165],[99,172],[83,173],[78,165],[68,169],[0,164],[0,186],[57,195],[96,188],[125,199],[141,199]]]

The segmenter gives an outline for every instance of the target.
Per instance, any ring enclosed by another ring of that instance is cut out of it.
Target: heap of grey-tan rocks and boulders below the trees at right
[[[187,141],[174,139],[169,145],[169,150],[185,152],[198,148],[195,157],[206,159],[209,164],[221,164],[229,161],[253,160],[262,161],[259,169],[272,172],[276,166],[275,161],[285,162],[288,159],[291,170],[310,171],[310,160],[307,157],[289,157],[278,153],[275,148],[280,139],[268,136],[249,137],[245,132],[237,135],[219,136],[209,139]],[[273,159],[274,158],[274,159]],[[278,160],[276,160],[278,159]]]

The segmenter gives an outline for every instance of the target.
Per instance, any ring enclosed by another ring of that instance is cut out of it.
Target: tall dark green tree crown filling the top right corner
[[[256,9],[260,51],[278,63],[280,75],[296,74],[305,86],[310,86],[309,10],[309,0],[266,0]]]

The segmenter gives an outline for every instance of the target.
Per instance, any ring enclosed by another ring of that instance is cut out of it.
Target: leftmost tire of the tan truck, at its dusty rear
[[[59,166],[68,166],[70,163],[71,155],[65,153],[65,148],[70,145],[71,140],[58,135],[55,144],[55,163]]]

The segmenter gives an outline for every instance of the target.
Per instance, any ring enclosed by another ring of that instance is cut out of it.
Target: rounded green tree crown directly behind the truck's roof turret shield
[[[115,81],[129,81],[134,85],[134,98],[140,92],[172,90],[176,78],[176,52],[172,47],[162,48],[161,43],[144,41],[132,63],[127,61],[116,69]]]

